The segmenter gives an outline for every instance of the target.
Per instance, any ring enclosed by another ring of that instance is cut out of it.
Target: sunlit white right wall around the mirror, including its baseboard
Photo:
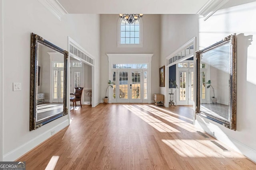
[[[208,20],[199,20],[200,49],[237,33],[237,116],[236,131],[229,130],[209,119],[196,116],[196,125],[229,147],[256,162],[256,2],[226,8]]]

